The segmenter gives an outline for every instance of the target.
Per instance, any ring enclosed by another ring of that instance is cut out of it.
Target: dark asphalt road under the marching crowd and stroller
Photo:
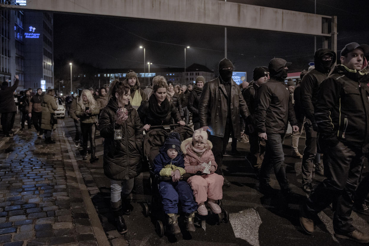
[[[336,239],[333,236],[332,211],[328,207],[319,214],[318,222],[313,235],[307,235],[299,223],[299,204],[306,199],[301,189],[301,159],[286,156],[286,173],[290,186],[296,195],[292,200],[286,201],[280,194],[279,185],[275,175],[271,176],[271,186],[275,193],[271,196],[261,194],[258,180],[252,172],[251,166],[244,161],[244,155],[249,149],[248,143],[238,142],[238,150],[243,156],[225,157],[223,168],[231,187],[223,188],[223,205],[228,211],[228,223],[216,224],[209,216],[202,221],[194,233],[186,233],[181,226],[182,233],[176,238],[164,235],[162,238],[155,231],[155,216],[145,217],[142,204],[151,201],[148,185],[148,172],[141,173],[135,180],[135,192],[132,194],[133,211],[125,216],[128,232],[121,236],[115,230],[112,215],[109,211],[110,182],[103,173],[103,139],[97,134],[97,155],[100,160],[90,164],[83,161],[82,156],[74,145],[75,127],[72,119],[66,117],[63,127],[79,165],[85,184],[90,191],[93,204],[99,214],[104,231],[112,245],[118,242],[128,245],[359,245],[358,243]],[[304,148],[303,137],[300,138],[300,153]],[[289,154],[291,139],[285,140],[284,152]],[[230,144],[229,144],[230,147]],[[367,165],[366,165],[367,166]],[[366,169],[368,170],[368,169]],[[324,178],[315,176],[314,187]],[[352,212],[354,225],[363,232],[369,233],[369,216]],[[113,241],[114,239],[115,241]]]

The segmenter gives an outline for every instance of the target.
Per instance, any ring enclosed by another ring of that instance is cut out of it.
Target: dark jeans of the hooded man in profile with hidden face
[[[260,184],[269,184],[270,171],[274,167],[274,173],[281,189],[290,188],[286,176],[286,164],[284,163],[283,137],[284,134],[267,133],[268,140],[265,141],[266,149],[261,164]]]

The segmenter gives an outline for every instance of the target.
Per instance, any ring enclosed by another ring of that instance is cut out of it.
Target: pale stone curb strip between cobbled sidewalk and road
[[[63,128],[64,128],[65,123],[63,122],[62,125],[63,125]],[[61,129],[61,128],[58,128],[58,129],[63,131],[63,129]],[[91,201],[91,197],[90,197],[89,191],[87,190],[87,187],[85,185],[85,181],[83,181],[82,174],[79,171],[79,167],[78,167],[77,161],[75,159],[74,153],[72,151],[72,148],[70,148],[70,144],[69,144],[68,139],[66,138],[65,134],[63,134],[63,138],[64,138],[64,141],[65,141],[65,145],[68,149],[68,154],[69,154],[69,157],[70,157],[70,161],[72,162],[73,169],[76,173],[78,186],[81,190],[83,202],[86,205],[86,211],[87,211],[87,214],[89,215],[89,219],[90,219],[92,229],[93,229],[93,232],[95,234],[97,243],[99,244],[99,246],[110,246],[110,243],[109,243],[109,241],[107,239],[107,236],[104,232],[103,226],[101,225],[99,216],[97,215],[96,209],[95,209],[95,207],[94,207],[94,205]]]

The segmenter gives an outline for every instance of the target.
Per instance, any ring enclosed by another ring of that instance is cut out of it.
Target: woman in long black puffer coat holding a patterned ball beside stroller
[[[131,205],[125,199],[134,186],[134,178],[141,170],[142,123],[130,104],[130,86],[115,80],[111,84],[108,104],[100,114],[100,136],[104,141],[104,173],[111,181],[111,209],[117,231],[127,232],[123,214],[130,214]],[[118,108],[127,115],[117,117]],[[121,139],[117,138],[120,132]],[[121,197],[123,191],[124,197]],[[122,207],[123,200],[123,207]]]

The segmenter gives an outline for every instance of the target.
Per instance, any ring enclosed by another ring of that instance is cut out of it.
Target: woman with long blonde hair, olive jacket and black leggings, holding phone
[[[83,160],[87,160],[87,141],[90,139],[90,163],[93,163],[99,160],[99,158],[95,156],[95,134],[97,115],[99,115],[100,108],[99,106],[97,106],[97,103],[89,90],[83,90],[81,97],[82,100],[79,100],[79,102],[77,103],[76,116],[80,118],[81,122],[81,130],[83,136]]]

